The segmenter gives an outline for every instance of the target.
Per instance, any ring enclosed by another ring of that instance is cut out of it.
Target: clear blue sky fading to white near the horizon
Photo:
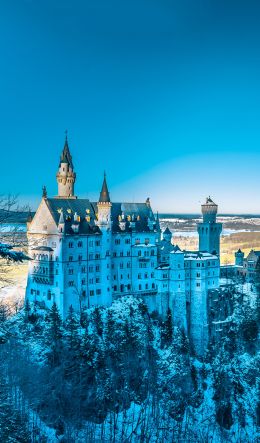
[[[260,212],[260,2],[2,0],[0,193]]]

